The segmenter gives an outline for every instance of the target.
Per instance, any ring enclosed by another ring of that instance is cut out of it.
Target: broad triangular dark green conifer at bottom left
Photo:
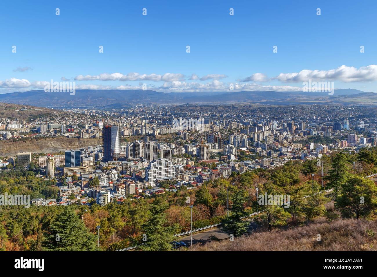
[[[44,242],[47,249],[55,251],[93,251],[97,249],[94,234],[87,231],[75,211],[64,209],[49,229],[48,239]]]

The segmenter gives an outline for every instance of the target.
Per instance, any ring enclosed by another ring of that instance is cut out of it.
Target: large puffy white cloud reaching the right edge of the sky
[[[309,70],[304,69],[298,73],[280,73],[277,79],[284,83],[297,83],[309,81],[309,79],[315,81],[342,81],[349,82],[366,82],[377,80],[377,65],[371,64],[369,66],[362,66],[359,69],[353,66],[339,66],[336,69],[331,70]]]

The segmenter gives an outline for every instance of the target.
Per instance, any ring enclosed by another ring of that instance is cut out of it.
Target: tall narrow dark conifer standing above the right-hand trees
[[[348,178],[347,158],[343,153],[337,153],[333,161],[331,161],[331,169],[325,177],[325,180],[328,181],[326,186],[335,189],[335,201],[337,200],[340,186],[345,184]]]

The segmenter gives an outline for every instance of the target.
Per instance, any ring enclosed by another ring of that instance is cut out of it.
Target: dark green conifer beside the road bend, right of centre
[[[245,190],[237,190],[231,197],[231,212],[228,218],[224,219],[224,230],[235,237],[247,233],[247,228],[250,225],[248,220],[242,217],[247,216],[244,204],[248,199],[248,193]]]

